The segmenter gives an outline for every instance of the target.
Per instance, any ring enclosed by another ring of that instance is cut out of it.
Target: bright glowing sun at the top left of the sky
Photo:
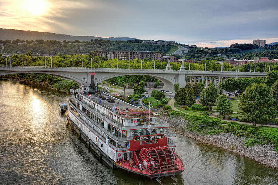
[[[31,15],[40,16],[47,12],[49,3],[45,0],[25,0],[25,10]]]

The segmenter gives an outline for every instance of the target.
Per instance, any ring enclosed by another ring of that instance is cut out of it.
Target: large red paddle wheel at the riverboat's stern
[[[154,173],[175,170],[174,157],[167,146],[141,149],[139,160],[146,170]]]

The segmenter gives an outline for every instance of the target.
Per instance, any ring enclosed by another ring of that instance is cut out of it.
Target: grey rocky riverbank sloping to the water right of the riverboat
[[[244,137],[237,137],[231,133],[220,133],[217,135],[201,135],[185,129],[187,121],[179,117],[161,116],[161,119],[170,123],[170,129],[176,133],[190,137],[200,142],[215,145],[222,149],[238,153],[259,163],[278,168],[278,154],[272,145],[254,145],[246,148]]]

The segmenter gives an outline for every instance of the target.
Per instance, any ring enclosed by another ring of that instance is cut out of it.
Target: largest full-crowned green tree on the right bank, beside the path
[[[238,109],[256,126],[257,123],[272,121],[277,116],[273,104],[270,88],[263,83],[253,83],[239,96]]]

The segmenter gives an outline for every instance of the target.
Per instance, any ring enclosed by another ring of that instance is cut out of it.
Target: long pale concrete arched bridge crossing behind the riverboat
[[[223,69],[223,66],[221,66]],[[180,87],[185,87],[186,81],[204,82],[206,86],[208,81],[217,84],[217,81],[224,82],[227,78],[253,78],[266,76],[266,72],[237,72],[237,71],[192,71],[185,70],[184,63],[180,70],[172,70],[170,61],[166,69],[110,69],[110,68],[83,68],[83,67],[37,67],[37,66],[0,66],[0,76],[6,74],[19,74],[19,73],[41,73],[53,74],[61,77],[69,78],[80,85],[85,82],[84,79],[90,79],[90,72],[95,72],[95,82],[102,82],[109,78],[119,77],[124,75],[148,75],[158,78],[164,83],[163,89],[174,92],[174,84],[179,83]],[[188,81],[190,77],[190,80]],[[209,79],[208,79],[209,78]],[[187,80],[186,80],[187,79]]]

